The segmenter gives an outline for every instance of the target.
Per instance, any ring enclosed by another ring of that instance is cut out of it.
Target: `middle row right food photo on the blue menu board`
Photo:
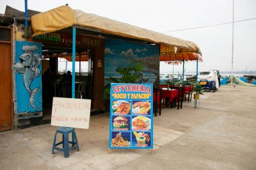
[[[150,130],[151,120],[146,116],[136,116],[132,120],[133,130]]]

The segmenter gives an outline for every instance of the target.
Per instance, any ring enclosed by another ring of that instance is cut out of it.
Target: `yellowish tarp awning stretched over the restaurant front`
[[[33,15],[31,23],[34,31],[33,36],[54,32],[70,26],[82,26],[98,30],[104,34],[114,34],[160,44],[160,60],[196,60],[197,58],[191,52],[201,54],[199,47],[194,42],[131,26],[130,24],[100,17],[92,13],[85,13],[81,10],[74,10],[69,6],[61,6]],[[177,47],[176,52],[174,52],[174,46]]]

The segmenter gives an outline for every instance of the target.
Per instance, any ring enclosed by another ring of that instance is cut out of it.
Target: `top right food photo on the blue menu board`
[[[150,108],[150,101],[133,101],[132,110],[134,114],[150,114]]]

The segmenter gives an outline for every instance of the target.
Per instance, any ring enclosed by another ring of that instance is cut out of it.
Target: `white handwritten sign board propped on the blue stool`
[[[90,99],[53,97],[51,125],[88,129],[90,110]]]

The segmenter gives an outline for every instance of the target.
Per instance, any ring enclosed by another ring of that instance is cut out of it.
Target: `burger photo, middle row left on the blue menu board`
[[[113,116],[113,130],[130,130],[131,117]]]

